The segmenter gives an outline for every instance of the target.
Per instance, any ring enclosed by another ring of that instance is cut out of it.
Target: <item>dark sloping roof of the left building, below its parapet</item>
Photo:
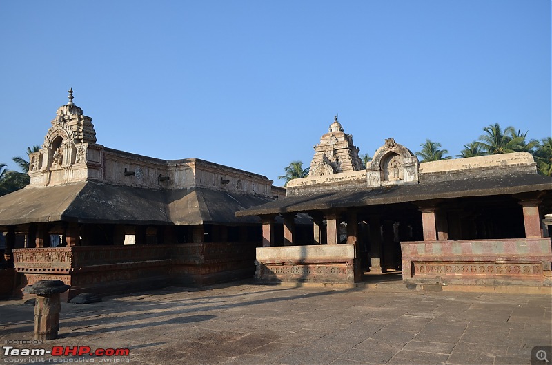
[[[26,187],[0,197],[0,225],[80,222],[134,225],[240,225],[257,217],[235,211],[261,205],[266,196],[206,188],[143,189],[95,181]]]

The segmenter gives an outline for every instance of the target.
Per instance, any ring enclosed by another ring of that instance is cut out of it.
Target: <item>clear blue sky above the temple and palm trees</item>
[[[451,155],[491,123],[551,135],[551,1],[1,1],[0,162],[57,107],[98,143],[275,180],[333,116]]]

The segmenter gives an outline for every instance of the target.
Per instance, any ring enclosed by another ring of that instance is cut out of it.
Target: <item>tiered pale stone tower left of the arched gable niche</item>
[[[362,170],[359,149],[353,145],[353,136],[343,132],[337,116],[330,125],[328,133],[315,145],[315,156],[311,161],[308,176],[337,174],[345,171]]]

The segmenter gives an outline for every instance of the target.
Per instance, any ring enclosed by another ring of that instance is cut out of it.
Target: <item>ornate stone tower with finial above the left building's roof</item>
[[[30,154],[30,185],[57,185],[101,178],[101,151],[90,116],[73,103],[62,105],[39,152]]]

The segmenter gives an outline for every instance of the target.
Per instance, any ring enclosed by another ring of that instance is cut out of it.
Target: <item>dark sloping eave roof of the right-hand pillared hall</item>
[[[421,202],[433,199],[511,195],[535,191],[551,192],[552,178],[537,174],[503,175],[426,184],[339,189],[317,194],[287,196],[258,207],[238,211],[236,216],[261,216],[264,214],[366,207],[401,202]]]

